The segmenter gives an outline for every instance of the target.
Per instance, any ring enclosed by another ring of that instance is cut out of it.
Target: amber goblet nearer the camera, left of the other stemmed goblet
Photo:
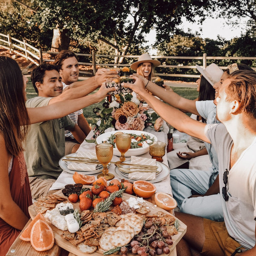
[[[114,178],[114,174],[109,173],[108,163],[111,161],[113,157],[113,145],[109,143],[101,143],[96,145],[96,156],[100,163],[103,165],[102,173],[97,176],[104,177],[106,180],[112,180]]]

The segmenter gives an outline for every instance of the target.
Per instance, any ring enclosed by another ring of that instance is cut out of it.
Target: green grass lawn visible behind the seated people
[[[177,94],[181,95],[181,97],[187,98],[187,99],[195,99],[198,97],[198,92],[196,91],[196,88],[184,88],[184,87],[171,87]],[[29,82],[27,83],[27,99],[33,98],[37,96],[37,93],[35,93],[35,89],[29,79]],[[93,105],[90,105],[83,109],[84,117],[87,119],[89,124],[91,124],[92,117],[97,118],[97,116],[93,113],[93,109],[95,107],[102,108],[102,103],[104,100],[100,103],[95,103]]]

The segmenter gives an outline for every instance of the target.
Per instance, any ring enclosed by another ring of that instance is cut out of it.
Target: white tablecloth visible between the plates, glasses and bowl
[[[162,142],[165,142],[167,144],[167,134],[164,133],[163,131],[156,132],[154,129],[152,129],[150,127],[147,127],[144,131],[154,134],[155,136],[157,136],[158,141],[162,141]],[[87,139],[91,139],[92,136],[93,136],[93,132],[91,131],[89,133],[89,135],[87,136]],[[79,151],[93,151],[93,150],[95,150],[95,144],[94,143],[87,143],[84,140],[84,142],[80,145],[77,152],[79,152]],[[143,155],[140,155],[140,157],[151,158],[149,153],[145,153]],[[130,158],[126,157],[126,160],[128,160],[128,159],[130,159]],[[112,158],[111,161],[112,162],[119,161],[119,157],[113,155],[113,158]],[[163,156],[163,163],[168,166],[166,152],[165,152],[165,155]],[[114,169],[115,169],[114,164],[110,164],[108,169],[109,169],[109,173],[113,173],[115,175],[115,178],[120,180],[120,178],[117,176],[117,174],[114,171]],[[97,179],[97,175],[98,174],[94,175],[95,180]],[[57,178],[57,180],[53,183],[50,190],[64,188],[64,186],[66,184],[74,184],[74,180],[73,180],[72,176],[73,176],[73,174],[68,173],[65,170],[63,170],[63,172],[60,174],[60,176]],[[111,182],[111,180],[109,182]],[[154,185],[157,188],[156,192],[165,192],[165,193],[169,193],[169,194],[172,195],[172,188],[171,188],[171,185],[170,185],[170,176],[169,175],[164,180],[154,183]]]

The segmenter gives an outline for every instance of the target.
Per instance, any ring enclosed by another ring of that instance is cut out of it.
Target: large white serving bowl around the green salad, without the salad
[[[154,138],[154,141],[157,141],[157,137],[150,133],[150,132],[145,132],[145,131],[136,131],[136,130],[118,130],[118,131],[112,131],[112,132],[105,132],[101,135],[99,135],[96,139],[96,142],[98,144],[103,143],[104,141],[107,141],[108,138],[112,135],[115,134],[116,132],[123,132],[123,133],[135,133],[136,135],[141,135],[142,133],[144,135],[149,135],[150,138]],[[146,147],[141,147],[141,148],[130,148],[128,151],[125,153],[125,157],[131,157],[132,155],[142,155],[145,154],[149,151],[149,145]],[[116,155],[118,157],[121,157],[121,153],[118,151],[117,148],[113,148],[113,155]]]

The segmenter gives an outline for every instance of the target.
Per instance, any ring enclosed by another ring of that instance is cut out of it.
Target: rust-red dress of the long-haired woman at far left
[[[13,157],[9,181],[12,199],[30,218],[28,207],[32,204],[32,198],[23,153],[20,153],[18,157]],[[15,212],[10,209],[10,214],[15,214]],[[20,230],[15,229],[0,218],[0,255],[6,255],[19,233]]]

